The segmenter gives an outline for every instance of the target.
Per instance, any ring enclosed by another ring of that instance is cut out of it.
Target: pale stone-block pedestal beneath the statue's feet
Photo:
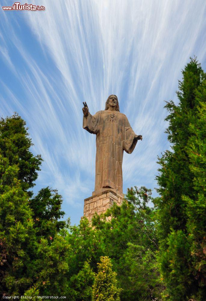
[[[98,214],[106,212],[114,202],[121,206],[124,196],[122,192],[112,188],[101,188],[93,191],[92,196],[85,199],[84,216],[91,222],[95,212]]]

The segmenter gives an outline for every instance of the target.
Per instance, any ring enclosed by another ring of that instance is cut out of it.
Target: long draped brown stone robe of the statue
[[[137,144],[125,114],[118,111],[99,111],[83,117],[83,128],[96,134],[95,191],[114,188],[122,192],[123,152],[131,154]]]

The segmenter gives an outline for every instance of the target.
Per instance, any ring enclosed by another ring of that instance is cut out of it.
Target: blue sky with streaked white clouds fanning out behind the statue
[[[123,191],[134,185],[154,190],[157,155],[170,147],[164,101],[177,101],[190,56],[206,69],[206,2],[32,4],[45,11],[0,8],[0,115],[17,111],[26,120],[32,151],[44,159],[35,192],[58,189],[66,218],[78,224],[94,191],[96,151],[95,135],[82,129],[82,101],[94,114],[108,95],[118,96],[120,112],[143,135],[133,153],[124,154]]]

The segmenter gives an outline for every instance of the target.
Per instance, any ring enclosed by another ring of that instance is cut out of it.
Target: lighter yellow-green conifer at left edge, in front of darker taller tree
[[[0,293],[23,294],[32,284],[37,248],[28,194],[19,167],[0,154]]]

